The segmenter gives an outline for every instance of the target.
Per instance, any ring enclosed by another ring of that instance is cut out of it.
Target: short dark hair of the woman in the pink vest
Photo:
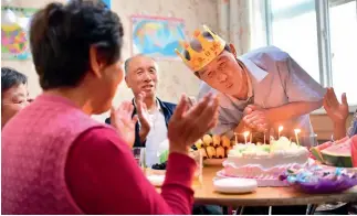
[[[30,46],[43,89],[76,86],[91,68],[90,47],[107,65],[120,58],[123,25],[101,1],[50,3],[30,24]]]

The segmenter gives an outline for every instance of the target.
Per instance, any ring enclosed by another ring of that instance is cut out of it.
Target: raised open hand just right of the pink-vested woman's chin
[[[135,141],[135,125],[138,120],[137,116],[132,118],[134,106],[130,101],[124,101],[115,110],[111,110],[111,125],[116,128],[122,138],[133,147]]]

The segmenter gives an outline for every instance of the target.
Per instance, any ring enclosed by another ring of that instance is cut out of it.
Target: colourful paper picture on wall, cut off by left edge
[[[1,58],[28,60],[31,57],[29,22],[36,9],[1,7]]]

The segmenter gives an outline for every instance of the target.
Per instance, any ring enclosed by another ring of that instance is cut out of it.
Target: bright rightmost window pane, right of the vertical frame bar
[[[332,79],[336,94],[347,94],[357,105],[357,6],[356,1],[329,4]]]

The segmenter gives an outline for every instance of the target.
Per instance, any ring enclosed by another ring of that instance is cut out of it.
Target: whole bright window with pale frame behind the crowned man
[[[265,0],[266,39],[357,105],[356,0]]]

